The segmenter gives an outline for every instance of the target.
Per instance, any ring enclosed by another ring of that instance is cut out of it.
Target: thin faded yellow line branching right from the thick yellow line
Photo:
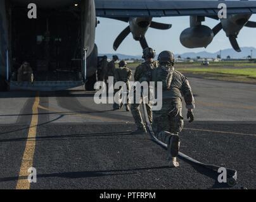
[[[67,112],[61,112],[59,110],[56,110],[56,109],[52,109],[52,108],[48,108],[48,107],[43,107],[41,105],[39,105],[39,108],[40,109],[44,109],[44,110],[47,110],[47,111],[50,111],[50,112],[56,112],[56,113],[59,113],[59,114],[67,114]],[[92,115],[89,115],[89,114],[86,114],[86,115],[83,115],[83,114],[78,114],[78,113],[75,113],[75,112],[68,112],[70,114],[68,114],[69,116],[77,116],[77,117],[83,117],[83,118],[90,118],[90,119],[96,119],[96,120],[99,120],[99,121],[111,121],[111,122],[127,122],[129,123],[130,121],[123,121],[123,120],[120,120],[120,119],[112,119],[112,118],[107,118],[107,117],[100,117],[100,116],[92,116]]]

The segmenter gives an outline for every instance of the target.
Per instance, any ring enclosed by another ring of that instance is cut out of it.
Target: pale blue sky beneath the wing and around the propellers
[[[128,26],[128,23],[105,18],[99,18],[98,20],[101,22],[96,29],[96,44],[98,45],[99,53],[115,53],[115,50],[112,48],[113,42],[117,35]],[[223,31],[218,33],[218,35],[212,41],[212,44],[208,45],[207,49],[187,49],[183,47],[181,42],[179,42],[179,35],[185,28],[189,27],[189,16],[153,18],[153,20],[172,24],[172,28],[170,30],[155,30],[150,28],[146,33],[148,44],[157,50],[157,52],[161,52],[162,50],[172,50],[176,54],[182,54],[184,52],[200,52],[202,50],[207,50],[208,52],[217,52],[221,49],[231,48],[229,40]],[[250,20],[256,21],[256,15],[252,16]],[[217,25],[217,23],[219,22],[207,18],[206,21],[203,22],[203,25],[213,28],[215,25]],[[240,35],[238,36],[238,43],[241,47],[256,47],[255,36],[256,28],[245,27],[243,30],[241,30]],[[141,51],[142,50],[139,42],[136,42],[130,33],[120,45],[116,53],[135,56],[141,55]]]

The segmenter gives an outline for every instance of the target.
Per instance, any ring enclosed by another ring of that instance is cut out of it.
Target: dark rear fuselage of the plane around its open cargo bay
[[[94,76],[98,57],[94,0],[35,0],[36,19],[27,16],[30,3],[0,1],[1,79],[10,80],[22,61],[35,69],[74,68],[84,77]]]

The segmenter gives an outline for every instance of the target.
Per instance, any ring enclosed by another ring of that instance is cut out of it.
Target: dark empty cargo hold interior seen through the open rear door
[[[38,9],[37,19],[29,19],[27,9],[14,8],[10,24],[12,72],[27,61],[34,71],[35,81],[80,79],[82,27],[79,12]]]

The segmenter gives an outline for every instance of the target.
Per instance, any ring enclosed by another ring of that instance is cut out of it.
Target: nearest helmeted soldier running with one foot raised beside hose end
[[[195,100],[191,86],[185,76],[174,69],[174,54],[163,51],[158,56],[159,66],[152,73],[152,80],[162,81],[162,109],[153,112],[153,131],[157,138],[168,145],[170,166],[177,167],[179,136],[184,121],[182,117],[182,97],[188,109],[189,122],[194,121]]]

